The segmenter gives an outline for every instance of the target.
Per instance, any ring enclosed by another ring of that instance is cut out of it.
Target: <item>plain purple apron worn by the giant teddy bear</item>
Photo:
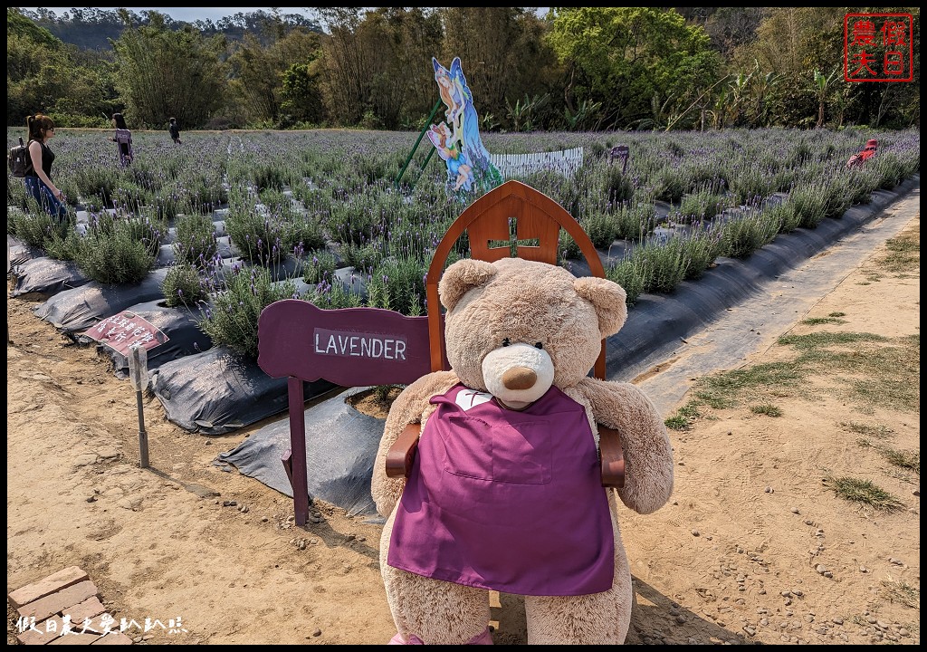
[[[583,406],[552,387],[515,412],[463,385],[431,403],[387,564],[510,594],[612,588],[612,519]]]

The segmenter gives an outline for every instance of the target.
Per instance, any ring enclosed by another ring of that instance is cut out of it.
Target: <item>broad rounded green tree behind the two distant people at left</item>
[[[155,11],[142,27],[123,16],[127,29],[112,45],[116,87],[133,122],[160,128],[174,116],[184,125],[204,125],[222,107],[224,38],[207,40],[189,25],[171,31]]]

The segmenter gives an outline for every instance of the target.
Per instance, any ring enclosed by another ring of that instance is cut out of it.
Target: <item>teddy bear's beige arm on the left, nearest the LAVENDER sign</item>
[[[405,480],[402,477],[387,475],[387,458],[390,455],[390,449],[400,439],[409,424],[422,422],[422,416],[430,406],[431,397],[450,389],[456,382],[457,376],[452,372],[439,371],[428,374],[402,390],[390,405],[371,479],[371,495],[380,516],[386,517],[392,512],[405,486]]]

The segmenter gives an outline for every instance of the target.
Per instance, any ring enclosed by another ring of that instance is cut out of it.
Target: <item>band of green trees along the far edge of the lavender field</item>
[[[905,11],[919,24],[918,7]],[[158,11],[79,8],[54,19],[10,7],[7,122],[41,110],[61,125],[108,127],[101,115],[121,110],[134,128],[164,129],[174,115],[184,129],[417,132],[438,95],[427,62],[449,52],[462,56],[484,134],[904,128],[920,119],[917,60],[913,83],[874,88],[834,77],[839,7],[558,7],[550,19],[527,7],[317,13],[324,38],[292,14],[239,14],[201,32]],[[919,53],[920,31],[911,37]],[[787,172],[771,174],[784,191]]]

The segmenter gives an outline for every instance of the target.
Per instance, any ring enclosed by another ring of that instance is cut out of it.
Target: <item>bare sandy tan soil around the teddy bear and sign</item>
[[[920,213],[902,235],[920,242]],[[886,273],[885,255],[872,251],[788,332],[919,337],[919,254],[903,273]],[[316,502],[318,522],[295,526],[288,497],[211,464],[266,422],[193,435],[150,395],[140,468],[131,385],[36,318],[39,301],[7,302],[7,593],[78,566],[117,620],[182,619],[184,632],[148,644],[390,639],[379,524]],[[802,323],[835,312],[844,324]],[[743,368],[793,354],[772,346]],[[620,514],[637,599],[629,643],[920,643],[920,406],[856,402],[838,381],[821,372],[780,392],[781,416],[744,405],[670,431],[669,504]],[[854,424],[880,439],[861,445]],[[887,448],[916,453],[916,470]],[[834,477],[870,480],[895,508],[838,497],[823,481]],[[495,642],[524,644],[522,603],[493,597]],[[10,644],[15,623],[7,607]]]

